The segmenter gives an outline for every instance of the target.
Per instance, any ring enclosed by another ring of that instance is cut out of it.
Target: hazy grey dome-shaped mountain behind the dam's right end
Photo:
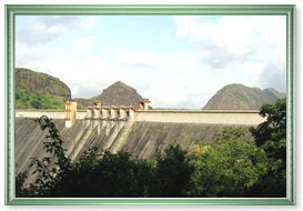
[[[275,89],[249,88],[243,84],[228,84],[219,90],[203,110],[259,110],[262,104],[274,103],[285,93]]]

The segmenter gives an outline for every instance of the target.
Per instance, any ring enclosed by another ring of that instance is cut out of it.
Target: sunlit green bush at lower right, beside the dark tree
[[[265,172],[263,150],[242,129],[225,130],[211,143],[191,150],[194,197],[241,197]]]

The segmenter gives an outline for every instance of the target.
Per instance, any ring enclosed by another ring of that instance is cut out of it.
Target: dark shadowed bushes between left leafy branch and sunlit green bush
[[[131,158],[127,152],[98,153],[98,148],[92,148],[72,165],[49,197],[180,197],[191,173],[184,159],[180,147],[166,150],[155,165]],[[170,170],[174,170],[173,173]]]

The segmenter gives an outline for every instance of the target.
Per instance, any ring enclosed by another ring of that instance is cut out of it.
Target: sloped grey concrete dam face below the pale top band
[[[46,113],[44,113],[46,114]],[[16,118],[16,173],[28,169],[31,158],[46,155],[43,141],[46,133],[32,118]],[[211,141],[225,128],[250,124],[210,124],[155,121],[101,121],[77,119],[71,128],[64,120],[53,119],[64,141],[63,147],[72,160],[91,147],[100,151],[128,151],[140,159],[155,158],[170,144],[190,149],[196,141]]]

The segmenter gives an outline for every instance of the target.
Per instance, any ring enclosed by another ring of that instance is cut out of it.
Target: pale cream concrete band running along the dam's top
[[[17,118],[64,119],[64,112],[58,110],[16,110]],[[78,111],[77,119],[100,121],[147,121],[174,123],[243,124],[256,125],[265,119],[259,110],[92,110]]]

